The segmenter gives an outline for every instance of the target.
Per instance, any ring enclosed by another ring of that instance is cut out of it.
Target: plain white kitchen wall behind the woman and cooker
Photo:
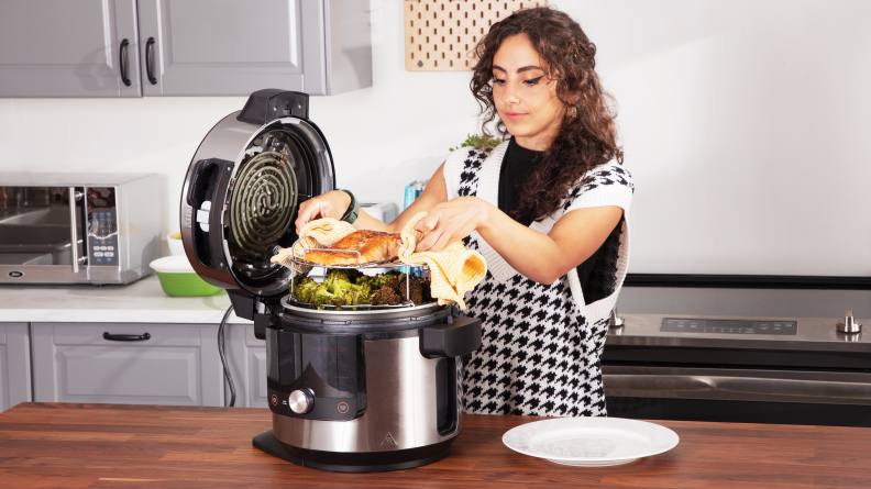
[[[871,275],[871,2],[552,3],[597,44],[619,104],[630,271]],[[372,8],[374,87],[310,113],[339,186],[399,205],[477,110],[468,74],[405,70],[400,0]],[[156,171],[168,232],[197,145],[243,103],[0,99],[0,169]]]

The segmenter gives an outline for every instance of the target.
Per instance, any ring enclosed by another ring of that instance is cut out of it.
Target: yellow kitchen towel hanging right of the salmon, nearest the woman
[[[403,229],[403,247],[399,248],[399,260],[427,264],[430,269],[430,288],[432,297],[440,304],[456,302],[465,310],[463,294],[481,282],[487,275],[487,262],[481,253],[466,249],[463,243],[455,241],[441,252],[414,253],[418,242],[425,236],[415,225],[427,215],[421,212]]]

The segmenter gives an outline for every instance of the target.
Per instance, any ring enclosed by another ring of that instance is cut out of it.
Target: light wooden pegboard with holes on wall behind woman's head
[[[468,70],[475,63],[471,51],[490,25],[517,10],[544,4],[543,0],[406,0],[406,69]]]

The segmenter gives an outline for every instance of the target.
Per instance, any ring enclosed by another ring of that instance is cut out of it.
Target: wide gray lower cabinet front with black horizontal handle
[[[148,338],[111,341],[104,333]],[[223,405],[217,333],[214,325],[34,323],[34,398]]]

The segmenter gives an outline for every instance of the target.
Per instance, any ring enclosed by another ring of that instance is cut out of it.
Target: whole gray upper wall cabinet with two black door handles
[[[360,0],[0,0],[0,97],[371,87],[367,9]]]

